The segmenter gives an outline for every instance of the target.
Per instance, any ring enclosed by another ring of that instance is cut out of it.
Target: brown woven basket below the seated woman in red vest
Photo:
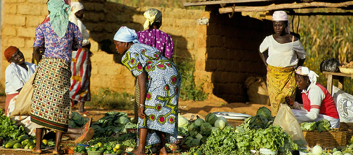
[[[351,132],[351,130],[334,129],[322,132],[318,132],[317,130],[303,131],[303,134],[309,147],[320,144],[323,149],[333,149],[345,147],[349,144],[352,136]]]

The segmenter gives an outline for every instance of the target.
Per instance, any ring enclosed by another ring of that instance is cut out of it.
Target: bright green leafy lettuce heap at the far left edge
[[[10,120],[10,117],[6,117],[2,114],[0,108],[0,139],[7,141],[9,139],[16,139],[20,135],[23,135],[23,126],[16,126],[15,121]]]

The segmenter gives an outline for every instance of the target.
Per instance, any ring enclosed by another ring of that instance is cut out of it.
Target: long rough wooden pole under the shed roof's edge
[[[288,8],[305,8],[305,7],[347,7],[353,5],[353,1],[341,2],[341,3],[327,3],[327,2],[311,2],[311,3],[297,3],[292,4],[271,4],[268,6],[235,6],[219,8],[220,13],[231,13],[233,12],[260,12],[269,10],[282,10]]]

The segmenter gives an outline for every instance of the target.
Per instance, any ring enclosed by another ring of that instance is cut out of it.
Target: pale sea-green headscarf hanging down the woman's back
[[[50,11],[50,23],[54,32],[58,37],[64,37],[68,25],[68,16],[71,12],[70,5],[65,4],[64,0],[50,0],[48,10]]]

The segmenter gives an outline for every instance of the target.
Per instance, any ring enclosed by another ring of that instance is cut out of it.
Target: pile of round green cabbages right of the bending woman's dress
[[[187,120],[183,116],[179,116],[178,118],[182,122],[181,124],[178,123],[179,135],[189,135],[182,144],[189,147],[205,144],[208,136],[211,135],[212,129],[218,128],[222,130],[227,125],[226,118],[217,117],[213,113],[209,113],[205,117],[205,120],[198,118],[189,124],[187,124]]]

